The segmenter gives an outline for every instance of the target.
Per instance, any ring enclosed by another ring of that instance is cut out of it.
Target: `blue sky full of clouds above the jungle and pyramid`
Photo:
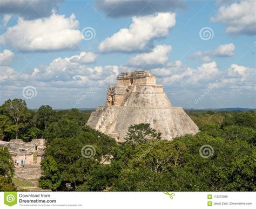
[[[0,1],[0,103],[96,108],[118,74],[146,69],[173,106],[256,108],[254,0],[11,2]]]

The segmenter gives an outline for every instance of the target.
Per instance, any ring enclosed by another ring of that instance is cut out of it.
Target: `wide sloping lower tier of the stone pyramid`
[[[181,107],[98,107],[86,125],[113,137],[118,142],[124,142],[128,128],[139,123],[150,123],[151,128],[162,134],[163,140],[198,132],[197,125]]]

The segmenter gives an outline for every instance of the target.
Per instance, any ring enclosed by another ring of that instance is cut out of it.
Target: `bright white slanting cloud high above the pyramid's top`
[[[133,17],[129,29],[120,29],[99,44],[100,52],[138,52],[153,47],[153,39],[166,37],[176,24],[175,13]]]

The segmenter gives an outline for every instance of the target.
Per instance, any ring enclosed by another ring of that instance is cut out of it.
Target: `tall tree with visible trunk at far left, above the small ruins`
[[[15,122],[16,139],[18,138],[19,129],[21,129],[22,122],[28,117],[28,107],[26,107],[25,100],[14,99],[7,100],[2,105],[4,113],[6,113]]]

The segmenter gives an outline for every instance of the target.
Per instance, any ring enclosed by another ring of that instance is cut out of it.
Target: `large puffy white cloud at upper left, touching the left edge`
[[[18,18],[16,25],[8,27],[0,35],[0,44],[11,45],[21,51],[56,51],[75,47],[82,39],[82,33],[75,15],[66,18],[57,15],[25,20]]]

